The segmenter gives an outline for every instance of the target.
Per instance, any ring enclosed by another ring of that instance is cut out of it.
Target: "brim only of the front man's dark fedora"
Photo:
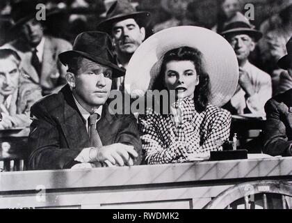
[[[85,57],[86,59],[89,59],[90,61],[94,61],[94,62],[100,63],[104,66],[108,66],[110,68],[113,68],[113,70],[114,70],[113,78],[124,76],[124,70],[122,70],[121,68],[116,66],[114,63],[111,63],[111,61],[107,61],[99,56],[95,56],[95,55],[88,54],[86,52],[77,51],[77,50],[69,50],[69,51],[60,53],[58,55],[60,62],[63,63],[65,66],[67,66],[68,63],[70,63],[70,61],[72,60],[72,58],[74,58],[76,56],[82,56],[82,57]]]

